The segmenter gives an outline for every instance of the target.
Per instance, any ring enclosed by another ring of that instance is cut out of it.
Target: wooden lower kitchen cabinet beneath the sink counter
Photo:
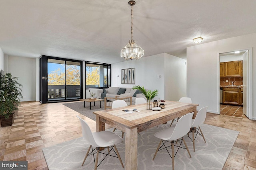
[[[242,88],[223,88],[222,103],[242,105]]]

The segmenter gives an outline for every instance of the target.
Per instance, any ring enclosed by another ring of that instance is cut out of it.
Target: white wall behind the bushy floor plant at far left
[[[36,58],[8,56],[8,70],[23,85],[22,102],[36,101]],[[38,74],[39,75],[39,74]]]

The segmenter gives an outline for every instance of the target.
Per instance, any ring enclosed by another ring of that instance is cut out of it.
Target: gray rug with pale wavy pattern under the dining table
[[[141,132],[138,135],[138,170],[171,169],[172,160],[166,150],[158,151],[156,158],[154,161],[152,160],[160,142],[154,134],[169,126],[170,122],[148,129],[147,132]],[[188,137],[184,137],[192,158],[189,157],[185,149],[179,149],[175,156],[174,168],[176,170],[221,170],[224,166],[239,132],[206,124],[200,127],[204,133],[206,143],[204,143],[202,136],[197,136],[195,140],[196,152],[193,152],[192,141]],[[112,131],[112,129],[109,130]],[[116,130],[116,133],[121,135],[119,130]],[[49,170],[92,170],[94,169],[93,156],[88,156],[84,166],[81,166],[88,147],[89,145],[81,137],[42,150]],[[125,163],[125,141],[116,145],[116,147],[123,163]],[[174,148],[177,149],[177,147]],[[171,147],[168,149],[171,153]],[[104,150],[104,152],[106,151],[107,149]],[[99,162],[103,156],[103,154],[99,155]],[[118,158],[112,156],[107,156],[98,166],[98,170],[121,169],[123,168]]]

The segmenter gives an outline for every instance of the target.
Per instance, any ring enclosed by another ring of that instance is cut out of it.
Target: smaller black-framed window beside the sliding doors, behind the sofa
[[[111,85],[111,65],[86,62],[86,88],[102,88]]]

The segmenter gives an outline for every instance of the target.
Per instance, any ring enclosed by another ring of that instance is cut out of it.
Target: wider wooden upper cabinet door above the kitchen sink
[[[242,61],[225,62],[225,76],[226,77],[243,76],[242,66],[243,66]]]

